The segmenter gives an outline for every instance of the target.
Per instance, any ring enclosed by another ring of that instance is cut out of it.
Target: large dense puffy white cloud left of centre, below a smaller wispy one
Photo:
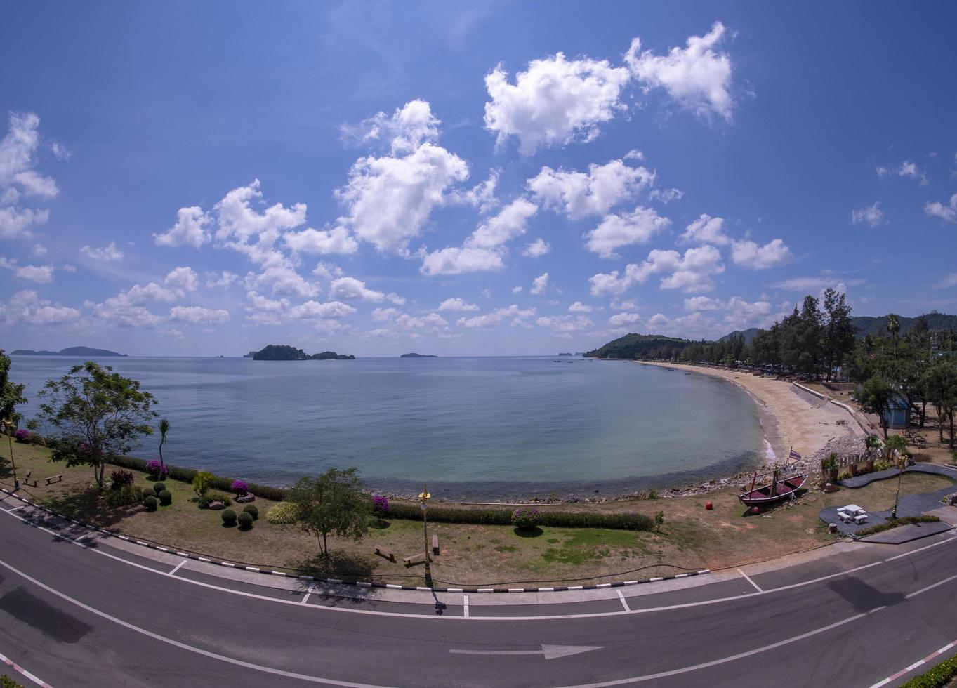
[[[404,254],[432,211],[446,203],[446,191],[468,176],[465,161],[434,144],[401,158],[360,158],[336,191],[348,211],[339,223],[379,251]]]

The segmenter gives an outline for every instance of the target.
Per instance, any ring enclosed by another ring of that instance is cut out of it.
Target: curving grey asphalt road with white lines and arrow
[[[661,594],[466,615],[462,595],[346,600],[174,570],[92,537],[79,546],[68,538],[83,531],[18,519],[16,503],[0,500],[0,654],[56,688],[871,686],[957,639],[949,534]]]

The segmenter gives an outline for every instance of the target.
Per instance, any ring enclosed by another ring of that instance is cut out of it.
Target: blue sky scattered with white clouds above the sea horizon
[[[957,7],[4,3],[8,349],[957,311]]]

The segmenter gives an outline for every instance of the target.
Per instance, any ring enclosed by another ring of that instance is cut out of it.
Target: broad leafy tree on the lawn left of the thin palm
[[[153,395],[110,366],[93,361],[72,366],[63,377],[48,381],[38,396],[43,400],[40,416],[59,429],[52,459],[92,466],[100,488],[106,460],[129,453],[153,432]]]

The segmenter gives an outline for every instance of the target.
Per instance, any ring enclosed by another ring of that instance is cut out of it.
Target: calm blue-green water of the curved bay
[[[78,359],[15,356],[33,396]],[[167,461],[290,484],[357,466],[367,485],[448,499],[621,494],[758,463],[758,408],[704,375],[581,358],[266,362],[122,358],[169,419]],[[571,361],[571,363],[569,363]],[[134,454],[157,455],[158,436]]]

